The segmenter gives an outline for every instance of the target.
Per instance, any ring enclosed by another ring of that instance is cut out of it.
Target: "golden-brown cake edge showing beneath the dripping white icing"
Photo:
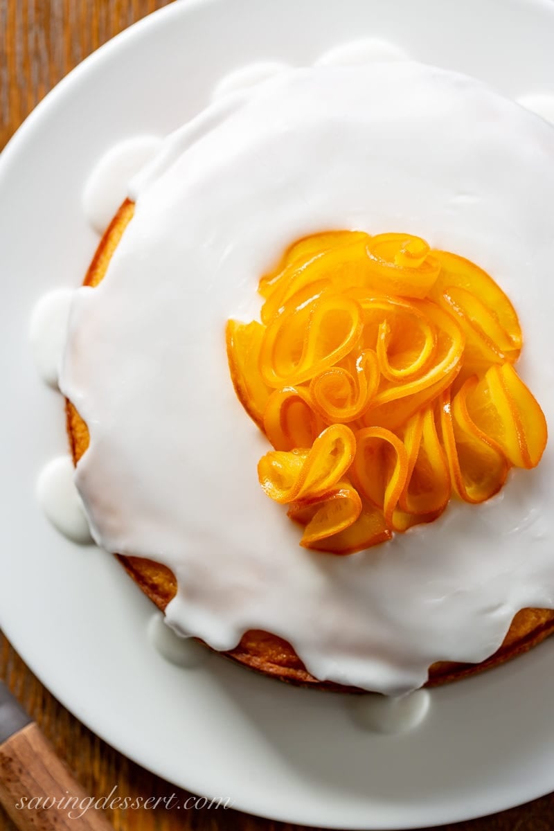
[[[110,226],[105,231],[96,249],[90,268],[86,273],[84,285],[96,286],[104,278],[110,258],[120,243],[125,228],[133,217],[135,206],[129,199],[120,206]],[[66,401],[67,434],[70,441],[71,455],[76,464],[89,444],[89,433],[70,401]],[[174,597],[177,583],[174,574],[164,565],[149,559],[123,557],[118,555],[126,572],[141,590],[163,612]],[[493,656],[479,664],[459,664],[442,661],[429,668],[428,686],[435,686],[446,681],[455,681],[464,676],[471,676],[478,671],[498,666],[509,658],[527,652],[554,632],[554,611],[549,609],[522,609],[513,618],[503,645]],[[306,667],[294,652],[292,646],[282,638],[269,632],[250,630],[245,632],[238,647],[223,653],[244,666],[274,676],[282,681],[290,681],[302,686],[328,691],[356,692],[354,687],[342,686],[330,681],[318,681],[306,671]]]

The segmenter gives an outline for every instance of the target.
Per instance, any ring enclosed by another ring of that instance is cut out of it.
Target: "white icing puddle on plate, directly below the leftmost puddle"
[[[74,543],[92,542],[91,531],[75,486],[75,468],[68,455],[44,466],[37,479],[37,498],[51,524]]]

